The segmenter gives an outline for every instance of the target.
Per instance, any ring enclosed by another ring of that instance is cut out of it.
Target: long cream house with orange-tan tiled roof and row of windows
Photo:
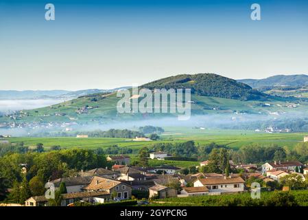
[[[244,192],[244,179],[241,177],[217,177],[197,179],[193,182],[193,187],[206,186],[209,192]]]

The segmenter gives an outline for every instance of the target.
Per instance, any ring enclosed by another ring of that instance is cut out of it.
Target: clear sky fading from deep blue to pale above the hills
[[[54,3],[56,21],[45,21]],[[250,5],[261,5],[261,21]],[[0,89],[89,89],[176,74],[308,74],[307,1],[3,1]]]

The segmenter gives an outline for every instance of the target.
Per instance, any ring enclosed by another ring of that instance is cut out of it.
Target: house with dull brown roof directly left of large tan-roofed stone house
[[[87,184],[90,184],[92,179],[93,176],[67,177],[67,178],[55,179],[54,181],[51,181],[51,183],[54,184],[55,190],[57,190],[60,187],[61,182],[64,182],[67,188],[67,193],[82,192],[82,188]]]

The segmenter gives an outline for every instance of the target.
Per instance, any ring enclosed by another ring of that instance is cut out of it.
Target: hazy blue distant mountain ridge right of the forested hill
[[[260,80],[243,79],[237,80],[239,83],[245,83],[253,89],[260,89],[262,87],[303,87],[308,85],[308,76],[305,74],[298,75],[276,75]]]

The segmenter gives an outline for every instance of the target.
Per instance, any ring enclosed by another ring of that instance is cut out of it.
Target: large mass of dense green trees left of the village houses
[[[13,188],[9,199],[21,202],[29,195],[41,195],[48,180],[72,177],[80,170],[106,166],[111,164],[106,161],[104,152],[88,149],[8,153],[0,157],[0,179],[4,183],[0,183],[0,187]],[[27,172],[23,173],[21,168],[26,168]]]

